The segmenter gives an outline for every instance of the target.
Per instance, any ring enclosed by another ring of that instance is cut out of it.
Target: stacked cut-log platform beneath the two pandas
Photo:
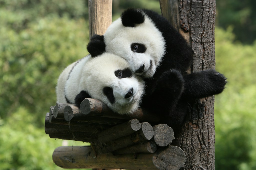
[[[45,117],[45,132],[50,138],[90,142],[96,155],[155,153],[169,146],[174,139],[173,129],[166,124],[151,126],[148,122],[155,125],[159,117],[141,108],[132,115],[120,115],[99,100],[84,99],[80,109],[74,104],[51,106]],[[185,154],[177,148],[176,157],[181,157],[179,164],[183,166]],[[53,153],[54,162],[70,168],[70,165],[63,165],[58,153],[57,148]]]

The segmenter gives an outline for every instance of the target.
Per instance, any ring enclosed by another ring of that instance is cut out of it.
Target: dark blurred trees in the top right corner
[[[256,39],[256,1],[216,0],[216,25],[233,27],[236,40],[251,44]]]

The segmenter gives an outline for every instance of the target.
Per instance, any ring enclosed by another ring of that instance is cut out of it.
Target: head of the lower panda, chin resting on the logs
[[[125,59],[103,53],[88,61],[82,72],[80,87],[92,98],[119,114],[129,114],[138,108],[144,81],[130,70]]]

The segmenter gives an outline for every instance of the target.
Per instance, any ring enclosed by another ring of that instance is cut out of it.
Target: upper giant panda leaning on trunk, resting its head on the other
[[[146,82],[141,106],[162,113],[163,122],[175,132],[192,101],[221,93],[227,82],[214,69],[188,74],[193,50],[164,17],[151,10],[125,10],[104,35],[95,35],[90,42],[127,60]]]

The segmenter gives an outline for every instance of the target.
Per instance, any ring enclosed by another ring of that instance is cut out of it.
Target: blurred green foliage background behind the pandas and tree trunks
[[[231,21],[228,11],[230,17],[241,11],[233,7],[237,1],[217,0],[219,26]],[[241,7],[250,11],[253,3],[246,2]],[[160,13],[157,0],[114,0],[113,19],[127,7]],[[88,54],[87,1],[0,0],[0,25],[0,169],[61,169],[51,154],[63,141],[45,134],[44,118],[55,105],[60,72]],[[236,33],[241,26],[233,22],[215,29],[216,70],[228,78],[225,91],[215,97],[216,169],[256,169],[256,43],[253,33],[250,45],[238,41],[253,24]]]

